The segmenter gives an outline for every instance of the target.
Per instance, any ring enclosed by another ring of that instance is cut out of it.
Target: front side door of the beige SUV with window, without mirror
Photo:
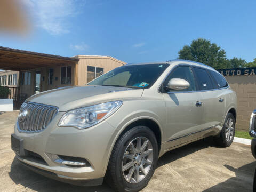
[[[196,103],[202,102],[200,92],[196,91],[194,76],[189,66],[175,68],[164,82],[164,87],[172,78],[181,78],[189,82],[186,90],[169,90],[163,93],[166,103],[166,150],[195,138],[193,133],[202,130],[203,108]]]

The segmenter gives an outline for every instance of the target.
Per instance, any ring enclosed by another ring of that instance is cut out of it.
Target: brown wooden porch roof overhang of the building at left
[[[78,58],[23,51],[0,46],[0,69],[31,70],[77,63]]]

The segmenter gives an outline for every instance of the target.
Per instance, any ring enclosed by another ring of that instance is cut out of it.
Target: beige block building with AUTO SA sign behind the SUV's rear
[[[220,69],[237,95],[238,130],[249,131],[252,111],[256,109],[256,68]]]

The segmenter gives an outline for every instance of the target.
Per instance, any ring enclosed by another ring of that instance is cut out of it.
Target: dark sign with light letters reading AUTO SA
[[[237,69],[217,69],[223,76],[255,75],[256,67],[237,68]]]

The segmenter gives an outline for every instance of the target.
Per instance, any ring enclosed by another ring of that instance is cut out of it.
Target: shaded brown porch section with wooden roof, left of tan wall
[[[10,99],[13,99],[14,103],[22,102],[37,92],[77,85],[78,61],[78,58],[0,46],[0,69],[20,73],[17,87],[11,87]],[[6,75],[2,77],[5,81],[9,78]]]

